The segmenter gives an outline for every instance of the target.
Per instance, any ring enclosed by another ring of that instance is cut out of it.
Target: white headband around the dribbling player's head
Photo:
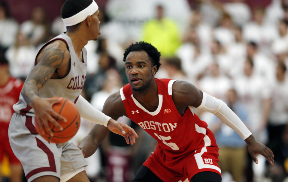
[[[76,25],[77,23],[80,23],[84,19],[86,19],[87,16],[94,14],[97,10],[98,10],[98,5],[93,0],[92,3],[88,7],[86,7],[85,9],[80,11],[79,13],[77,13],[77,14],[69,17],[69,18],[64,18],[64,19],[62,18],[62,20],[66,26]]]

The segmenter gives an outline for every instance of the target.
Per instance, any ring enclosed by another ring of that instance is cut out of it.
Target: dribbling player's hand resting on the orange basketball
[[[67,120],[52,109],[53,104],[56,104],[60,101],[61,99],[51,99],[41,97],[38,97],[37,99],[35,98],[32,101],[31,106],[34,109],[35,115],[38,118],[39,127],[43,134],[45,133],[44,131],[45,127],[47,132],[51,136],[53,136],[53,132],[49,127],[49,121],[57,128],[59,128],[59,130],[63,130],[62,126],[56,120],[63,122],[67,122]]]

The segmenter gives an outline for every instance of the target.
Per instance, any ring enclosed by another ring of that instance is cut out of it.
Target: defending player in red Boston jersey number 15
[[[129,117],[158,141],[156,150],[137,172],[133,181],[219,182],[218,147],[207,124],[192,106],[214,113],[247,143],[255,163],[262,154],[273,164],[273,153],[257,142],[238,116],[221,100],[177,80],[155,79],[160,52],[149,43],[130,45],[123,61],[129,84],[112,94],[103,112],[117,119]],[[80,144],[89,157],[108,130],[94,127]],[[92,147],[91,147],[92,146]],[[237,156],[235,156],[237,157]]]

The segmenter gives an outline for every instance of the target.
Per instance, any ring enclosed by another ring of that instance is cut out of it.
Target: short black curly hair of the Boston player
[[[133,51],[145,51],[149,55],[150,61],[153,66],[157,65],[157,71],[161,65],[160,56],[161,53],[156,49],[156,47],[152,46],[150,43],[140,41],[136,43],[132,43],[127,49],[125,49],[123,61],[126,61],[127,55]]]

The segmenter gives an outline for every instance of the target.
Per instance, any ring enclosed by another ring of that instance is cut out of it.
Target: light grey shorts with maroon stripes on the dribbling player
[[[47,142],[37,133],[34,122],[34,117],[14,113],[8,130],[11,148],[22,163],[28,182],[44,175],[61,179],[83,171],[87,164],[77,146]]]

